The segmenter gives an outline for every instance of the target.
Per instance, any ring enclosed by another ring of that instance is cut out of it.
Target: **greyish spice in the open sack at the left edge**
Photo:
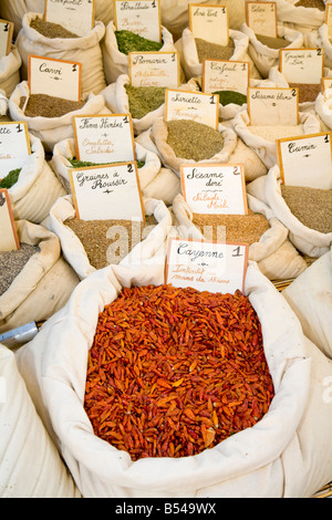
[[[0,297],[10,288],[30,258],[40,251],[38,246],[22,242],[20,249],[0,251]]]

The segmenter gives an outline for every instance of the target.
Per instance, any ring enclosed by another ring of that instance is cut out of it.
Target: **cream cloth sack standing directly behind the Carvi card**
[[[29,55],[53,58],[55,60],[82,63],[82,96],[90,93],[98,94],[106,86],[101,41],[105,34],[105,25],[96,21],[94,28],[85,35],[77,38],[48,38],[30,27],[43,14],[28,12],[22,19],[15,44],[22,58],[21,79],[28,80]]]

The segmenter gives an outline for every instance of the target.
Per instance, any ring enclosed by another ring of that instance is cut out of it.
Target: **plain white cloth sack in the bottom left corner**
[[[1,498],[80,498],[22,378],[14,353],[0,344]]]

